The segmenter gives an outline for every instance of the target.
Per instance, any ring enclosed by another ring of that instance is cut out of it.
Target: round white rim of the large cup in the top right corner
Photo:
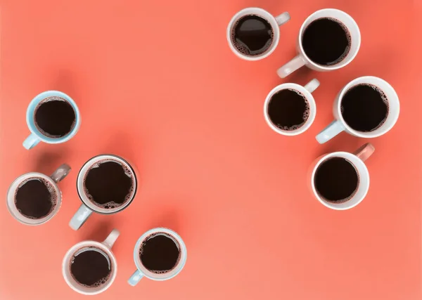
[[[354,25],[357,28],[359,39],[357,41],[356,51],[350,57],[350,60],[347,61],[344,65],[338,65],[338,64],[336,64],[336,65],[331,65],[329,67],[324,66],[324,65],[319,65],[317,63],[314,63],[307,56],[307,54],[305,53],[305,50],[303,49],[303,46],[302,46],[302,35],[303,35],[303,32],[305,31],[305,28],[306,28],[305,24],[307,24],[307,22],[310,19],[314,18],[314,15],[316,15],[317,13],[321,13],[321,11],[335,11],[337,13],[343,14],[343,15],[345,15],[346,18],[350,18],[350,20],[354,23]],[[354,20],[354,18],[352,18],[352,16],[349,15],[348,13],[345,13],[344,11],[341,11],[340,9],[336,9],[336,8],[323,8],[323,9],[319,9],[318,11],[315,11],[314,13],[312,13],[311,15],[309,15],[305,19],[305,21],[302,22],[302,25],[300,26],[300,30],[299,30],[299,35],[298,35],[298,45],[299,45],[299,48],[300,48],[300,53],[302,54],[302,57],[306,60],[306,63],[309,64],[309,65],[312,65],[313,67],[316,67],[316,68],[319,68],[321,70],[324,70],[324,71],[338,70],[338,69],[340,69],[342,67],[345,67],[346,65],[349,65],[350,63],[352,63],[352,60],[354,60],[354,58],[357,56],[357,53],[359,52],[359,48],[360,48],[360,45],[361,45],[361,40],[362,40],[362,37],[361,37],[360,29],[359,29],[359,26],[357,25],[357,22]]]

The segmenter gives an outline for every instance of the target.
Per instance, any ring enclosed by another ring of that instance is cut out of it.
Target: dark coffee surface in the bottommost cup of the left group
[[[111,266],[108,258],[96,250],[87,250],[73,256],[70,273],[82,285],[98,287],[108,280]]]

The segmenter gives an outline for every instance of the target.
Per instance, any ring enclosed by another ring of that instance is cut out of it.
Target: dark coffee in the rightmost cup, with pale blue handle
[[[384,93],[376,86],[359,84],[343,96],[341,113],[352,129],[373,131],[385,122],[388,104]]]

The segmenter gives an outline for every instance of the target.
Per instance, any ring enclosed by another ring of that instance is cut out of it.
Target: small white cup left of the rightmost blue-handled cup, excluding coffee
[[[314,92],[316,88],[318,88],[318,86],[319,86],[319,81],[317,79],[312,79],[307,84],[305,84],[305,86],[288,83],[288,84],[280,84],[279,86],[276,86],[274,89],[272,89],[269,92],[264,103],[264,118],[265,118],[265,121],[267,121],[268,126],[272,130],[276,131],[276,133],[283,134],[283,136],[297,136],[298,134],[304,133],[305,131],[307,131],[307,129],[314,122],[315,115],[316,115],[316,104],[315,104],[314,96],[312,96],[312,92]],[[283,89],[293,89],[295,91],[298,91],[303,96],[305,96],[307,102],[309,103],[309,117],[307,121],[305,122],[305,124],[300,126],[298,129],[290,130],[290,131],[283,130],[279,128],[278,126],[276,126],[273,122],[271,122],[271,119],[269,118],[268,105],[271,100],[271,97],[274,96],[275,93],[278,93],[279,91]]]

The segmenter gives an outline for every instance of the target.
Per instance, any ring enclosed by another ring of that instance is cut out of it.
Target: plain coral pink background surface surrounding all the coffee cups
[[[226,43],[232,15],[260,6],[288,11],[276,51],[247,62]],[[295,55],[307,16],[340,8],[357,21],[362,47],[342,70],[276,69]],[[44,226],[0,210],[0,299],[82,299],[61,275],[65,252],[85,239],[121,236],[115,283],[92,299],[421,299],[421,97],[416,93],[414,2],[336,0],[1,0],[0,193],[20,174],[73,168],[63,204]],[[420,33],[420,32],[419,32]],[[413,52],[414,51],[414,52]],[[353,151],[366,140],[345,133],[319,145],[335,94],[363,75],[395,87],[396,126],[371,140],[371,187],[350,211],[314,200],[306,174],[315,157]],[[301,136],[271,131],[262,107],[274,86],[321,81],[317,115]],[[22,142],[28,103],[58,89],[79,105],[82,127],[68,143]],[[75,232],[77,171],[90,157],[121,155],[139,169],[140,188],[120,214],[95,214]],[[155,226],[188,247],[184,270],[167,282],[127,285],[133,247]]]

